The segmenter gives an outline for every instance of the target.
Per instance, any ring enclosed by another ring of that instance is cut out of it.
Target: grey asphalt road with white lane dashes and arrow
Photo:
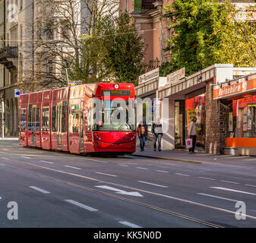
[[[8,219],[9,202],[17,203],[17,219]],[[0,227],[255,226],[251,169],[77,156],[0,141]]]

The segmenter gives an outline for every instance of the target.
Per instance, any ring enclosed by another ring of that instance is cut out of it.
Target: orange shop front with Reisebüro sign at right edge
[[[256,74],[216,86],[213,99],[228,107],[225,153],[256,155]]]

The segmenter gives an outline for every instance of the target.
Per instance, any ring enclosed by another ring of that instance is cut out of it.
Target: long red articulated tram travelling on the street
[[[134,84],[82,84],[22,94],[21,146],[70,153],[134,153],[135,125],[92,124],[88,121],[92,98],[108,102],[110,113],[116,109],[113,101],[122,99],[127,112],[128,100],[135,98]]]

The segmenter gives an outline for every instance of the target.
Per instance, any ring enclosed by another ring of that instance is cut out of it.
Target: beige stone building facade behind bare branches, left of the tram
[[[68,3],[67,3],[68,4]],[[76,34],[85,33],[86,27],[81,24],[89,12],[83,1],[73,0],[70,5],[76,12],[74,21]],[[60,11],[62,10],[62,11]],[[18,98],[15,89],[25,93],[47,89],[50,78],[59,77],[66,80],[64,64],[59,54],[49,48],[53,46],[68,52],[74,49],[65,48],[65,40],[70,37],[73,41],[70,27],[65,20],[68,16],[62,1],[46,2],[33,0],[0,0],[0,102],[5,103],[5,135],[18,134]],[[74,29],[73,29],[74,33]],[[74,42],[75,43],[75,42]],[[61,77],[62,76],[62,77]],[[48,78],[48,79],[47,79]],[[42,80],[46,86],[42,86]],[[58,84],[52,84],[58,87]],[[63,84],[59,84],[63,86]],[[2,124],[1,124],[2,125]],[[0,130],[2,133],[2,129]]]

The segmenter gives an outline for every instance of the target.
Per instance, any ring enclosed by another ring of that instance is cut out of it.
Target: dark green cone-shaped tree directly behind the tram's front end
[[[125,12],[116,21],[115,36],[106,50],[106,68],[119,82],[134,82],[144,73],[144,47],[134,20]]]

